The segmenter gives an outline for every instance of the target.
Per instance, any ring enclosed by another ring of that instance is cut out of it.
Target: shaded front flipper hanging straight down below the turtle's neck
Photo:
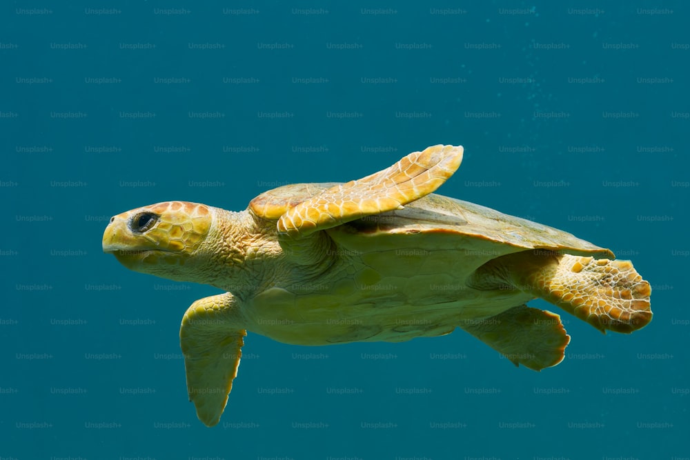
[[[179,330],[189,400],[206,426],[220,420],[242,357],[247,331],[234,314],[234,303],[228,293],[199,299]]]

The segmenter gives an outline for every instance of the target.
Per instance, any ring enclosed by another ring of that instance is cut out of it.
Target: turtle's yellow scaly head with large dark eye
[[[166,201],[110,218],[103,252],[130,270],[175,281],[195,281],[195,267],[213,226],[209,206]]]

